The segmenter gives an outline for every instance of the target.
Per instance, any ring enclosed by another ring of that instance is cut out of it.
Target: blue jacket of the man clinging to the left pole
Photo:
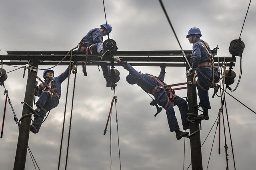
[[[52,81],[51,83],[51,89],[54,90],[55,93],[57,93],[60,97],[61,95],[61,83],[66,80],[66,78],[68,78],[68,71],[69,71],[69,68],[67,68],[63,73],[61,73],[58,77],[53,77],[52,79],[48,79],[48,80],[44,80],[44,82],[49,85],[50,81]],[[44,88],[39,85],[38,86],[38,93],[39,95],[41,95],[42,93],[42,90]],[[44,91],[47,91],[48,88],[46,87],[46,89]]]

